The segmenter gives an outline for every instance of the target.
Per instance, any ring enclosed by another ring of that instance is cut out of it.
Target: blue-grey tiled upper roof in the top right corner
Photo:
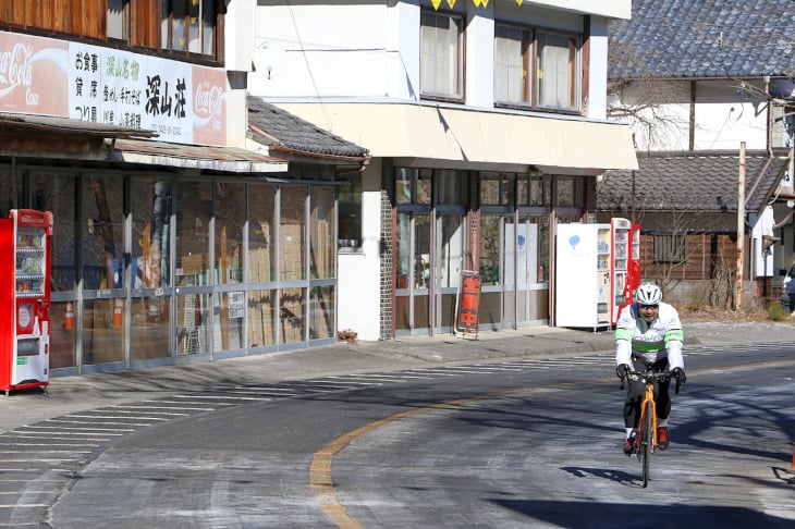
[[[791,77],[792,0],[633,0],[611,20],[609,78]]]

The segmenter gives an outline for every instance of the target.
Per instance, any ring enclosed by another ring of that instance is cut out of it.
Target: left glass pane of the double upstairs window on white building
[[[497,24],[494,27],[494,101],[529,103],[528,71],[531,58],[529,29]]]

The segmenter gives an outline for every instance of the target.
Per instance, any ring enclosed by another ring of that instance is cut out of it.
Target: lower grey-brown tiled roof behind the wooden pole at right
[[[746,211],[759,212],[787,165],[785,152],[746,152]],[[646,211],[737,211],[739,156],[735,152],[638,153],[635,207]],[[620,211],[632,202],[632,171],[607,171],[597,184],[597,209]]]

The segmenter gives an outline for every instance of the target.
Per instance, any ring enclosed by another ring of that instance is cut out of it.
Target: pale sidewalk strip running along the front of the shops
[[[687,345],[791,343],[794,337],[795,327],[791,323],[693,323],[685,325],[685,354]],[[227,360],[58,377],[50,380],[48,396],[38,389],[12,392],[10,398],[0,396],[0,433],[74,411],[212,386],[277,383],[512,357],[590,354],[609,352],[613,346],[612,331],[533,327],[481,332],[477,340],[445,334],[338,343]],[[606,366],[607,370],[611,368],[611,365]]]

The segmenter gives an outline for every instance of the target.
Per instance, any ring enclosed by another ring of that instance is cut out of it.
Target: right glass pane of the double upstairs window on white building
[[[538,104],[579,110],[579,39],[551,32],[537,32]]]

